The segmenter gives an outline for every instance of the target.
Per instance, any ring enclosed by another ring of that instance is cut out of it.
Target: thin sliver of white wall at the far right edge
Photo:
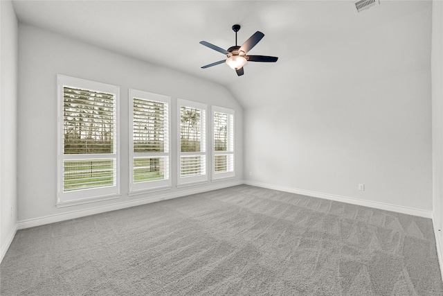
[[[437,250],[443,267],[443,2],[432,7],[432,148],[433,148],[433,222]]]

